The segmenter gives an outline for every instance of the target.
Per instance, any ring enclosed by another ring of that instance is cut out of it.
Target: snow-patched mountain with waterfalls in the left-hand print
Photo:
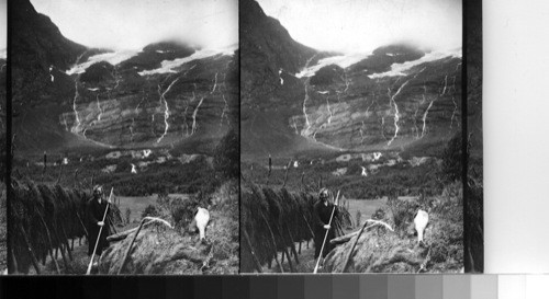
[[[11,13],[11,12],[10,12]],[[19,153],[67,149],[211,151],[237,124],[238,51],[159,41],[88,48],[29,0],[13,5],[13,131]]]

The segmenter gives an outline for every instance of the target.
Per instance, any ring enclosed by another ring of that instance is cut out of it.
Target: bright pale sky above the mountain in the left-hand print
[[[237,43],[237,0],[31,0],[69,39],[139,49],[166,39],[219,48]]]

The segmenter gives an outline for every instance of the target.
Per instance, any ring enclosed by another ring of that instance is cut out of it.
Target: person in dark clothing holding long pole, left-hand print
[[[108,207],[107,200],[103,199],[103,187],[97,185],[93,187],[93,197],[86,204],[86,216],[88,220],[88,256],[93,254],[93,249],[96,248],[96,242],[98,246],[96,249],[96,254],[101,255],[103,249],[108,246],[107,235],[109,234],[109,227],[103,222],[103,215]],[[99,230],[101,230],[101,238],[98,235]]]

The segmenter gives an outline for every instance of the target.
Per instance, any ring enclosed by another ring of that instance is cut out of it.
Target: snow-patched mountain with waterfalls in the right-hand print
[[[326,53],[240,2],[243,157],[302,151],[435,154],[461,126],[461,50],[406,43]],[[363,38],[367,38],[363,37]]]

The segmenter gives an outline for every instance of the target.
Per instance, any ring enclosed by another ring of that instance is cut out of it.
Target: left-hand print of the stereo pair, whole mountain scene
[[[10,273],[238,272],[237,10],[11,3]]]

